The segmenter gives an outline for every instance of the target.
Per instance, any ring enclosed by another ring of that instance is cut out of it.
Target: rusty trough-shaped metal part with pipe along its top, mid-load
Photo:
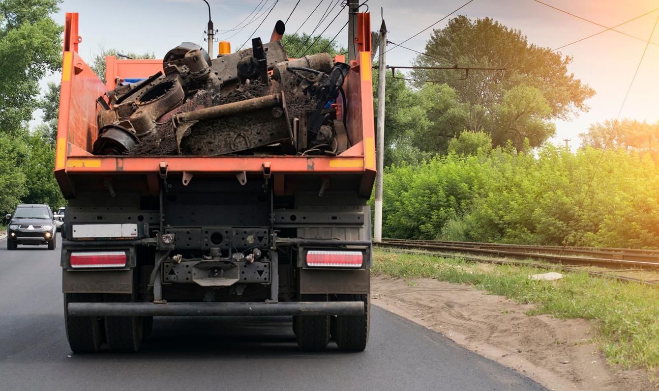
[[[293,153],[283,95],[267,95],[176,115],[179,153],[225,155],[280,143]]]

